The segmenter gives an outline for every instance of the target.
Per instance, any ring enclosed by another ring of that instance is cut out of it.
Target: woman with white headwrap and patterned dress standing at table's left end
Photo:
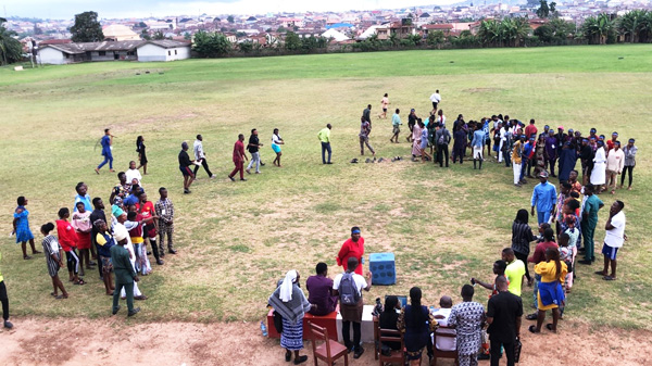
[[[308,356],[299,355],[299,351],[303,349],[303,316],[313,305],[308,302],[299,288],[299,273],[296,269],[286,274],[280,286],[269,296],[268,304],[283,318],[280,346],[286,349],[286,362],[292,358],[292,351],[294,351],[294,365],[305,362]]]

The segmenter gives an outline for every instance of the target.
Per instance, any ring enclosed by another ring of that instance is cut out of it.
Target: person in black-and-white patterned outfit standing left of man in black
[[[485,306],[473,301],[474,289],[471,285],[462,287],[462,300],[453,305],[449,316],[449,327],[454,327],[457,341],[460,366],[477,366],[476,358],[481,346],[480,331],[485,321]]]

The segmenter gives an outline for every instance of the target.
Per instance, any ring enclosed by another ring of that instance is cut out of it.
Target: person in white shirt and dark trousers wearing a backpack
[[[333,294],[340,299],[340,314],[342,316],[342,338],[348,350],[353,350],[353,358],[358,359],[364,353],[362,346],[362,312],[364,301],[362,290],[372,289],[372,273],[366,277],[358,274],[358,258],[351,256],[347,260],[347,272],[339,274],[333,281]],[[362,269],[360,269],[362,272]],[[353,342],[351,342],[351,325],[353,326]]]

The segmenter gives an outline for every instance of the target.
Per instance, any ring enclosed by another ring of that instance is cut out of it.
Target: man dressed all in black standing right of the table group
[[[511,283],[511,282],[510,282]],[[498,276],[496,279],[498,294],[487,303],[487,333],[489,333],[491,366],[498,366],[501,350],[505,350],[507,366],[514,366],[514,343],[521,337],[523,301],[521,296],[509,291],[507,279]]]

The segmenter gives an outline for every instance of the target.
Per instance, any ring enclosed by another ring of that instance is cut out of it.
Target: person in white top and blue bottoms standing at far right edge
[[[614,202],[609,211],[609,219],[604,225],[604,229],[606,230],[604,243],[602,244],[604,268],[598,270],[595,274],[603,276],[602,278],[606,281],[616,279],[616,254],[618,254],[618,250],[623,248],[623,243],[627,240],[627,236],[625,235],[626,218],[623,209],[625,209],[623,201]],[[610,263],[612,266],[611,274],[609,273]]]

